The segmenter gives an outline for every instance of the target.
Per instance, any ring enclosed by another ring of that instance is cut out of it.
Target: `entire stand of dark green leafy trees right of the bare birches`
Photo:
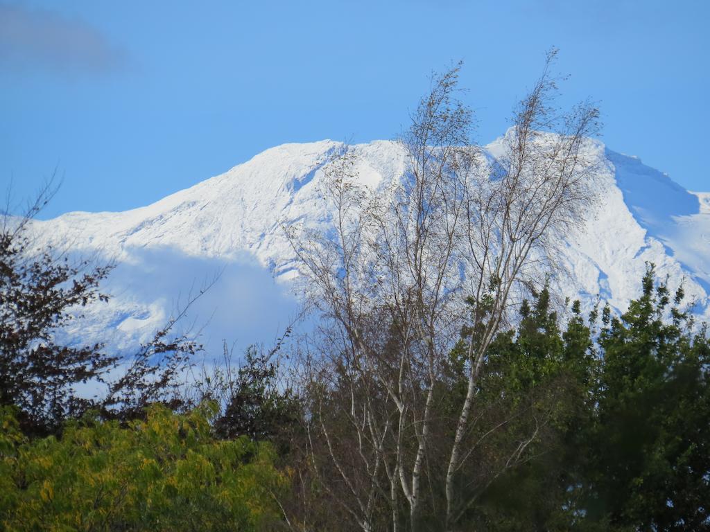
[[[528,437],[531,417],[540,431],[461,530],[710,530],[710,340],[682,300],[650,266],[626,313],[603,309],[594,342],[579,304],[564,332],[547,290],[523,304],[486,361],[476,406],[504,424],[472,473]]]

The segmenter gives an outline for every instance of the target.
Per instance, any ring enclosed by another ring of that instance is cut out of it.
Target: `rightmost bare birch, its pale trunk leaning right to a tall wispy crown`
[[[454,478],[465,459],[464,435],[486,351],[508,317],[516,287],[525,289],[545,275],[545,260],[554,257],[563,233],[584,221],[593,201],[586,178],[594,165],[584,142],[599,131],[599,111],[589,102],[566,114],[551,106],[557,79],[550,67],[556,54],[548,53],[542,76],[520,102],[490,177],[464,187],[468,253],[463,256],[473,313],[467,327],[468,386],[446,476],[448,527],[471,504],[455,493]]]

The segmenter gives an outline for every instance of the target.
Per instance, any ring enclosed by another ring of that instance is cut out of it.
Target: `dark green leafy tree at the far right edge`
[[[710,530],[710,347],[650,266],[643,295],[599,337],[590,513],[612,526]]]

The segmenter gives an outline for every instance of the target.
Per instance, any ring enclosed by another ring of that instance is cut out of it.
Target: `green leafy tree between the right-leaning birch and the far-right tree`
[[[592,419],[590,387],[599,366],[591,345],[579,305],[567,331],[559,331],[547,288],[532,305],[523,303],[516,331],[496,338],[477,405],[486,409],[505,398],[503,419],[510,421],[493,440],[494,450],[505,450],[509,440],[529,443],[514,467],[504,468],[481,492],[468,525],[547,531],[568,530],[577,521],[579,431]]]

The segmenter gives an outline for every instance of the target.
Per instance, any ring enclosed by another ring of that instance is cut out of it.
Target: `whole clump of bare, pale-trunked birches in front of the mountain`
[[[589,199],[582,146],[598,113],[585,105],[557,116],[554,57],[493,163],[469,140],[471,111],[455,97],[457,65],[432,80],[400,138],[399,179],[377,193],[361,187],[356,152],[346,148],[323,179],[332,230],[288,231],[312,301],[329,318],[327,355],[310,358],[306,372],[307,387],[317,390],[308,426],[313,465],[322,467],[322,450],[330,465],[322,482],[364,531],[383,514],[393,531],[415,530],[425,507],[452,528],[471,504],[457,476],[475,456],[470,421],[486,352],[515,295]],[[461,331],[466,394],[455,419],[441,419],[437,393]],[[500,467],[522,459],[536,434]],[[334,478],[345,489],[333,489]]]

